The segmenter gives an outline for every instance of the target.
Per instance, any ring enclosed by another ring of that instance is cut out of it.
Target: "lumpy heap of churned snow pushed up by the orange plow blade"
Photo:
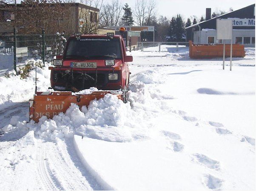
[[[33,130],[36,137],[47,141],[70,138],[74,134],[114,142],[147,139],[148,119],[164,109],[161,104],[154,107],[152,104],[158,100],[174,98],[161,94],[159,89],[148,89],[145,86],[145,83],[152,86],[162,83],[162,78],[156,77],[156,73],[152,70],[138,74],[137,79],[130,84],[129,103],[127,104],[119,100],[116,95],[106,94],[100,100],[92,100],[88,108],[82,106],[81,111],[78,105],[71,103],[65,113],[60,113],[53,119],[43,116],[38,124],[33,121],[19,122],[19,117],[13,116],[10,124],[2,130],[6,134],[16,132],[18,129]],[[91,88],[80,91],[80,93],[90,94],[91,91],[98,90]]]

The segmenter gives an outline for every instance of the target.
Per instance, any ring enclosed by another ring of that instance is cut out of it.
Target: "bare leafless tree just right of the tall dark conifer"
[[[148,25],[156,16],[156,0],[137,0],[133,12],[137,25]]]

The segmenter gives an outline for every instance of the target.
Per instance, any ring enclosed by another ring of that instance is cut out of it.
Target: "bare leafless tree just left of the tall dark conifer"
[[[100,24],[103,26],[117,26],[122,19],[122,2],[112,0],[102,6]]]

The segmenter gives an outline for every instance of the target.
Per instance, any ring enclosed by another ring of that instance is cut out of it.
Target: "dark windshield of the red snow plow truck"
[[[114,58],[121,59],[119,39],[71,39],[65,58]]]

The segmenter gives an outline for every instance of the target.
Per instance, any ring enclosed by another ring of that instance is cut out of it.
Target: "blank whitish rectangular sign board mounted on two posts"
[[[232,20],[230,19],[222,19],[216,20],[216,39],[217,40],[225,40],[232,39],[233,25]]]

